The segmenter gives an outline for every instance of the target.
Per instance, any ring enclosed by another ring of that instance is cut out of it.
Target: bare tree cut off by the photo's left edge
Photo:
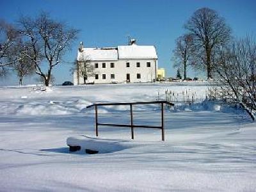
[[[10,60],[10,55],[18,38],[18,31],[4,20],[0,20],[0,76],[6,74],[6,67],[15,61],[14,57]]]

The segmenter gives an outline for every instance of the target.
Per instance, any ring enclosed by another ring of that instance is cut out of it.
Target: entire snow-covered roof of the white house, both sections
[[[118,47],[83,48],[77,54],[77,60],[111,61],[118,59],[157,59],[156,49],[152,45],[122,45]]]

